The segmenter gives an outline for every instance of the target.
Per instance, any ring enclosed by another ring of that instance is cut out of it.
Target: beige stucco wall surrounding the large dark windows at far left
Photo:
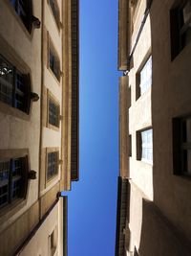
[[[41,4],[33,1],[33,14],[41,20]],[[11,61],[19,70],[29,72],[32,91],[41,92],[41,29],[28,33],[9,1],[0,2],[0,54]],[[16,33],[15,33],[16,32]],[[6,49],[4,45],[6,43]],[[15,112],[21,112],[13,109]],[[28,149],[30,169],[37,178],[30,182],[26,204],[9,220],[1,224],[4,229],[21,216],[38,198],[40,100],[32,103],[30,115],[21,112],[25,118],[16,117],[0,109],[0,149]]]

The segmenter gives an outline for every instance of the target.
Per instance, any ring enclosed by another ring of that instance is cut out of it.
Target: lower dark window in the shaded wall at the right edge
[[[173,119],[175,175],[191,175],[191,116]]]

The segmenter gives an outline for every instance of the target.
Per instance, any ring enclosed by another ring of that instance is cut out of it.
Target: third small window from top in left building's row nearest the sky
[[[53,100],[53,97],[49,95],[48,123],[56,128],[59,128],[59,113],[59,105]]]

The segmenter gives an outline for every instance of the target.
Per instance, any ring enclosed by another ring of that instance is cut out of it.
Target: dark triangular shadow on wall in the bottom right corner
[[[190,256],[182,234],[150,201],[142,201],[142,226],[138,254],[141,256]]]

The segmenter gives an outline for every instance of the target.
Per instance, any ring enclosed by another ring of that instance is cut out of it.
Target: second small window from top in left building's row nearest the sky
[[[49,40],[49,67],[53,71],[53,75],[59,81],[60,80],[60,61],[53,48],[53,43]]]

